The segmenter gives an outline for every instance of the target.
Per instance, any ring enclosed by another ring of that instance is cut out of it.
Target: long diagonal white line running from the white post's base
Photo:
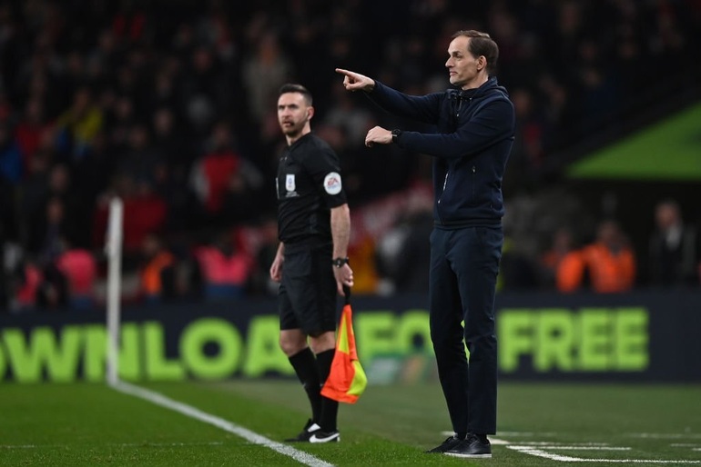
[[[194,418],[200,422],[209,423],[210,425],[214,425],[225,432],[234,433],[248,442],[260,444],[261,446],[270,448],[275,452],[289,456],[295,461],[309,465],[310,467],[333,467],[333,464],[322,461],[318,457],[315,457],[308,452],[298,451],[286,444],[274,442],[265,436],[258,434],[257,432],[251,432],[250,430],[247,430],[246,428],[243,428],[235,423],[229,422],[215,415],[211,415],[207,412],[202,412],[186,403],[174,401],[173,399],[170,399],[163,394],[159,394],[158,392],[150,391],[123,381],[110,383],[109,386],[119,392],[134,395],[140,397],[141,399],[145,399],[148,402],[153,402],[160,405],[161,407],[166,407],[172,411],[180,412],[183,415],[187,415],[188,417]]]

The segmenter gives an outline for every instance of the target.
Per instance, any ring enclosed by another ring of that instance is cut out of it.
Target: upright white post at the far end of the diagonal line
[[[124,204],[118,197],[109,202],[107,224],[107,383],[119,381],[119,324],[122,277],[122,220]]]

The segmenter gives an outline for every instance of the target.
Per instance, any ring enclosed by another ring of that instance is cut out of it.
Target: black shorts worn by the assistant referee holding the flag
[[[281,330],[300,329],[312,336],[336,330],[338,306],[332,254],[330,244],[285,245],[279,287]]]

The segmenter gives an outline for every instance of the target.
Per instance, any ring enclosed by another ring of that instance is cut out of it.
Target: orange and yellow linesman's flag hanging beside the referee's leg
[[[331,362],[331,371],[321,388],[321,395],[338,402],[355,403],[365,386],[368,377],[358,360],[353,333],[353,312],[351,310],[351,290],[344,288],[346,304],[340,314],[339,334],[336,336],[336,353]]]

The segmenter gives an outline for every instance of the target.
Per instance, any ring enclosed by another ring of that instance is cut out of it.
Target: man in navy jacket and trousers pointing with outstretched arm
[[[346,89],[365,91],[392,114],[436,126],[431,134],[376,126],[365,144],[394,143],[433,156],[431,338],[455,433],[429,452],[492,457],[486,435],[496,432],[494,293],[503,244],[502,180],[515,117],[506,90],[490,76],[499,49],[489,35],[459,31],[448,55],[445,66],[457,89],[423,96],[336,71]]]

